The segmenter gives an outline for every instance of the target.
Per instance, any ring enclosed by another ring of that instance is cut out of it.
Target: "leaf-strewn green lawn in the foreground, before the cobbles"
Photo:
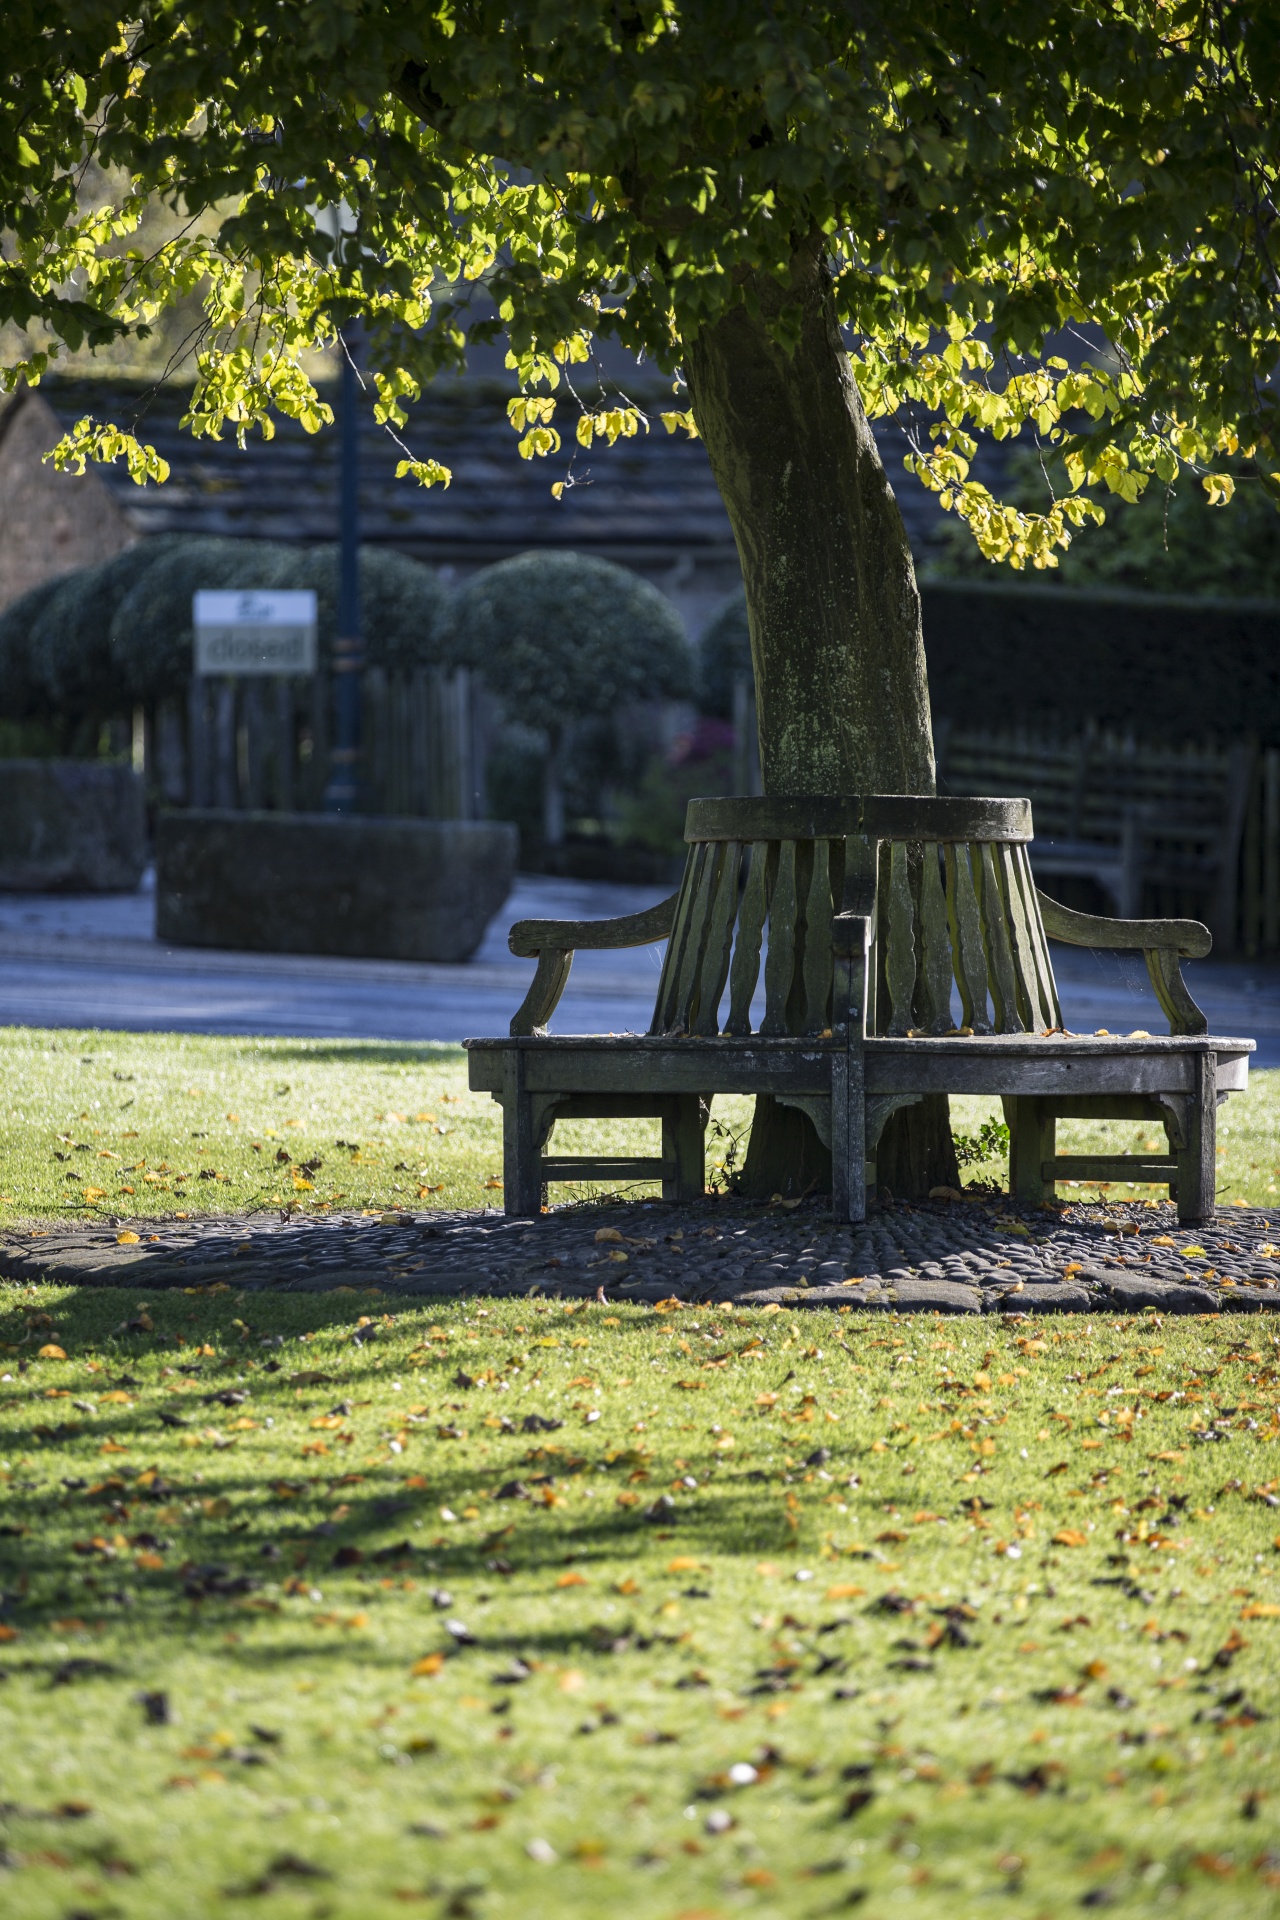
[[[1270,1319],[395,1308],[8,1288],[6,1914],[1274,1914]]]

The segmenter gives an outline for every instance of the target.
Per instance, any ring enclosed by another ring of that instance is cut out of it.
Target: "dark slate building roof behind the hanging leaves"
[[[71,422],[84,413],[132,430],[169,461],[163,486],[138,488],[123,467],[100,468],[136,534],[184,532],[257,540],[332,540],[338,526],[336,426],[305,434],[276,420],[273,440],[253,436],[246,449],[234,434],[194,440],[180,428],[188,392],[146,390],[117,380],[46,380],[40,394]],[[712,480],[702,442],[649,434],[583,453],[566,445],[549,459],[522,461],[507,420],[510,388],[468,376],[441,380],[415,407],[405,430],[415,457],[453,470],[449,488],[397,480],[403,449],[372,420],[361,426],[361,538],[434,564],[484,564],[528,547],[574,547],[631,564],[656,559],[729,559],[733,532]],[[336,392],[328,392],[336,401]],[[902,474],[902,440],[877,426],[881,455],[896,486],[912,547],[919,557],[936,540],[942,518],[933,495]],[[555,480],[570,480],[562,497]]]

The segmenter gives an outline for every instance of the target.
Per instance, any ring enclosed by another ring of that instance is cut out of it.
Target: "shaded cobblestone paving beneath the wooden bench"
[[[1276,1246],[1272,1246],[1272,1235]],[[1230,1208],[1180,1229],[1174,1208],[1025,1210],[1002,1194],[877,1208],[839,1227],[825,1204],[568,1206],[497,1212],[249,1215],[8,1227],[0,1275],[98,1286],[530,1294],[858,1306],[885,1311],[1280,1311],[1280,1210]]]

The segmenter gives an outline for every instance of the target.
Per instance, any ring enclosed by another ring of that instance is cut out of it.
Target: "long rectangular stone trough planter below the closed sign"
[[[155,933],[177,947],[470,960],[510,893],[516,829],[184,808],[155,828]]]

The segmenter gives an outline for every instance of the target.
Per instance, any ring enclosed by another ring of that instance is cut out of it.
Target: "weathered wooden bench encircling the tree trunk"
[[[1211,937],[1059,906],[1034,887],[1031,837],[1017,799],[691,801],[683,881],[660,906],[518,922],[510,948],[537,972],[510,1037],[466,1041],[472,1089],[503,1106],[507,1212],[537,1213],[557,1181],[660,1181],[691,1200],[712,1096],[768,1092],[810,1116],[837,1217],[862,1219],[889,1116],[956,1092],[1004,1096],[1023,1200],[1059,1179],[1153,1181],[1182,1219],[1211,1215],[1217,1106],[1253,1052],[1211,1039],[1182,981]],[[1063,1033],[1046,935],[1144,952],[1169,1037]],[[576,950],[654,941],[668,945],[647,1035],[547,1033]],[[1063,1116],[1157,1121],[1169,1152],[1055,1154]],[[662,1150],[555,1154],[574,1117],[656,1117]]]

